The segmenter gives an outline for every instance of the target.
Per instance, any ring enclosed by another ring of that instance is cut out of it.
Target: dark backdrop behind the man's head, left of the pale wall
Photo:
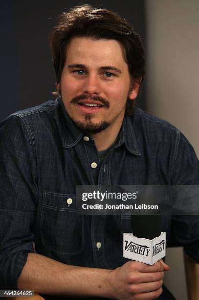
[[[7,0],[1,3],[1,109],[0,120],[16,110],[53,99],[55,75],[48,46],[48,34],[56,16],[78,2]],[[112,9],[133,24],[145,48],[144,0],[115,0],[84,3]],[[125,5],[124,5],[125,3]],[[145,108],[145,83],[137,105]]]

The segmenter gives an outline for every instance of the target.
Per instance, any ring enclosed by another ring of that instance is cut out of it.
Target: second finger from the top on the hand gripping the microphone
[[[140,273],[140,272],[132,272],[129,274],[125,281],[129,284],[132,283],[146,283],[146,282],[154,282],[163,279],[164,272],[152,272],[152,273]]]

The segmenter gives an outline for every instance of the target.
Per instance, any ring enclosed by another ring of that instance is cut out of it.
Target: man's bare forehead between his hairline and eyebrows
[[[66,50],[66,64],[113,65],[127,68],[125,52],[116,40],[95,40],[86,37],[73,38]]]

